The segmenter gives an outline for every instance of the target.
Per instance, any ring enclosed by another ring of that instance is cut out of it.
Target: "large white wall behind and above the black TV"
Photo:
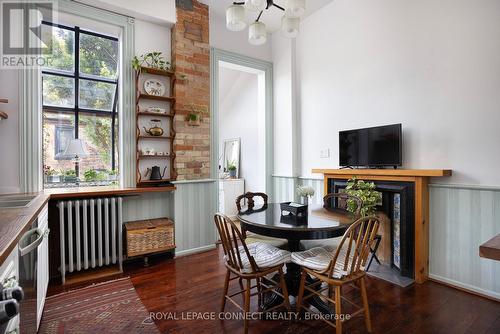
[[[338,166],[339,130],[401,122],[405,168],[500,185],[498,31],[493,0],[337,0],[306,18],[297,39],[302,174]]]

